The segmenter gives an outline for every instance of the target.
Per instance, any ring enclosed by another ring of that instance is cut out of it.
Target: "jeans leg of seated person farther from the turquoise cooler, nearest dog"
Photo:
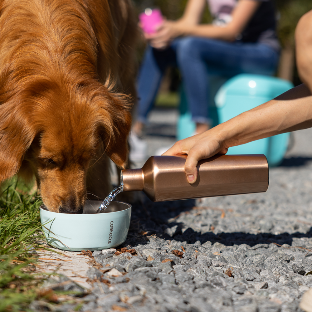
[[[170,65],[176,66],[174,44],[165,50],[157,50],[151,46],[146,48],[137,81],[139,121],[146,121],[146,116],[153,107],[161,78]]]

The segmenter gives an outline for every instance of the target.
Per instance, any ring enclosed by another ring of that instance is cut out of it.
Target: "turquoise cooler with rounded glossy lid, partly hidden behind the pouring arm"
[[[241,74],[229,79],[215,96],[219,123],[261,105],[291,89],[293,84],[276,77]],[[289,133],[230,147],[227,154],[264,154],[270,166],[278,165],[288,147]]]

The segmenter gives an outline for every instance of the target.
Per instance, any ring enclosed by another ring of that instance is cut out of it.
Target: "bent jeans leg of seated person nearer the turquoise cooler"
[[[279,54],[261,43],[237,43],[186,37],[177,46],[177,63],[195,122],[208,121],[211,73],[232,77],[241,73],[274,74]]]

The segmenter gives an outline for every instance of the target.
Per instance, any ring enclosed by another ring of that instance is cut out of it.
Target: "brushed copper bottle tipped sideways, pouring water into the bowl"
[[[198,162],[188,183],[186,156],[152,156],[142,169],[122,171],[124,191],[144,191],[154,202],[266,192],[269,167],[264,155],[215,155]]]

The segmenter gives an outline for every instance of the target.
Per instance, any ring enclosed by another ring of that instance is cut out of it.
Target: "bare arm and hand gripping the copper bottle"
[[[226,154],[231,146],[311,126],[312,95],[302,84],[202,134],[178,141],[163,155],[187,154],[185,172],[194,183],[200,159]]]

